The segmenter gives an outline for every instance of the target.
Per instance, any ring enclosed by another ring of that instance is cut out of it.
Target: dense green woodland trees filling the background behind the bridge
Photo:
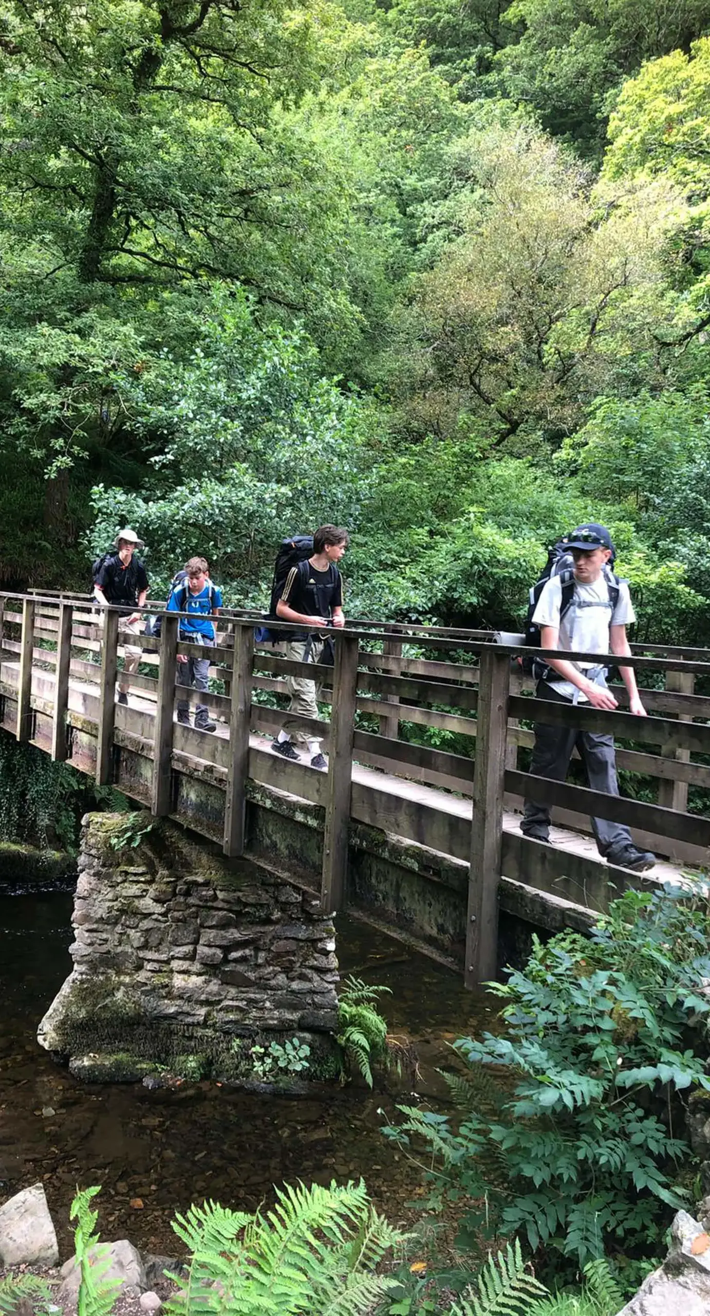
[[[709,642],[709,14],[647,0],[8,0],[3,583],[519,622],[594,516],[642,634]]]

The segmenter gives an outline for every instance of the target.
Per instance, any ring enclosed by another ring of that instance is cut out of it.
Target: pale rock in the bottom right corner
[[[678,1211],[671,1232],[673,1244],[663,1266],[618,1316],[709,1316],[710,1234],[686,1211]]]

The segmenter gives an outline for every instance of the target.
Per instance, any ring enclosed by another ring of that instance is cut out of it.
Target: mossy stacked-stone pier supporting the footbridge
[[[309,1049],[296,1086],[338,1075],[335,930],[313,892],[164,819],[88,813],[72,923],[38,1040],[76,1078],[293,1087],[260,1050],[293,1038]]]

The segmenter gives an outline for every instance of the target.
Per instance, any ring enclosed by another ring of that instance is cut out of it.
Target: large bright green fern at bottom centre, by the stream
[[[172,1277],[175,1316],[360,1316],[397,1286],[375,1270],[402,1234],[372,1208],[362,1180],[287,1186],[266,1215],[209,1202],[174,1229],[192,1253],[188,1275]]]

